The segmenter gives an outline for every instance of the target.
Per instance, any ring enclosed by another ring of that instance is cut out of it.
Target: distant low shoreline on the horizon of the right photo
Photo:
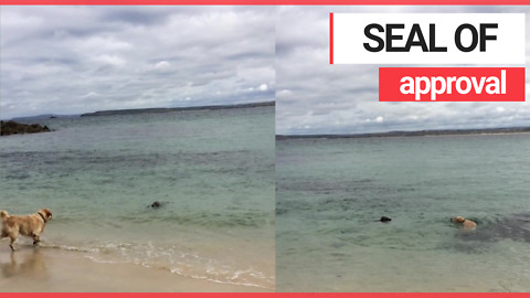
[[[354,138],[389,138],[389,137],[436,137],[466,135],[505,135],[528,134],[530,127],[483,128],[483,129],[434,129],[415,131],[388,131],[373,134],[324,134],[324,135],[276,135],[277,140],[288,139],[354,139]]]

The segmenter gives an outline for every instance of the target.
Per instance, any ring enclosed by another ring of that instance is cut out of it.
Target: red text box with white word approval
[[[379,102],[524,102],[524,67],[380,67]]]

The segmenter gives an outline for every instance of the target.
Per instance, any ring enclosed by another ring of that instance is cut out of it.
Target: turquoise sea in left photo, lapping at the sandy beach
[[[43,124],[0,143],[0,209],[50,209],[43,252],[274,288],[274,107]]]

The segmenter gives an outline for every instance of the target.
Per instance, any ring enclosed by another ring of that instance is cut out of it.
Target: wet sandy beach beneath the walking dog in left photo
[[[11,253],[8,243],[0,241],[0,291],[4,292],[273,291],[186,278],[141,265],[96,263],[76,252],[23,245]]]

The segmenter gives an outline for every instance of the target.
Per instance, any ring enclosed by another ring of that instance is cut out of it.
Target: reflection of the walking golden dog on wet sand
[[[44,255],[39,248],[32,248],[33,252],[11,252],[10,260],[0,263],[2,277],[12,278],[26,276],[33,278],[43,278],[47,276]]]

